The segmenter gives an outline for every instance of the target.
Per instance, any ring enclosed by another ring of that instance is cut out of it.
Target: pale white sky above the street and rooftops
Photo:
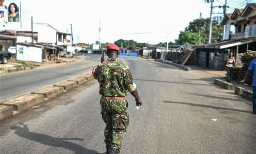
[[[227,12],[244,8],[255,0],[227,0]],[[214,0],[213,6],[225,0]],[[21,0],[22,29],[34,23],[48,23],[59,31],[73,25],[74,43],[114,42],[133,39],[137,42],[158,44],[178,38],[190,21],[210,16],[210,3],[204,0]],[[213,12],[223,12],[214,8]],[[217,16],[218,14],[214,14]],[[219,14],[222,15],[222,14]],[[77,39],[79,37],[79,40]]]

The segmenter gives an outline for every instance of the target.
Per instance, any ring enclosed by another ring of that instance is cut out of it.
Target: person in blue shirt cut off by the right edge
[[[256,114],[256,58],[251,61],[247,72],[245,73],[245,77],[243,80],[239,81],[239,83],[244,83],[245,80],[248,78],[250,73],[253,72],[253,81],[252,81],[252,87],[253,87],[253,93],[252,93],[252,113]]]

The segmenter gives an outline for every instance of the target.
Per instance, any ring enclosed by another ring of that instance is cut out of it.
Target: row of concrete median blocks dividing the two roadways
[[[91,73],[82,74],[68,81],[57,83],[53,86],[42,88],[25,94],[17,98],[0,102],[0,120],[6,119],[11,115],[25,111],[26,109],[43,103],[45,100],[56,97],[72,88],[80,86],[88,81],[93,80]]]

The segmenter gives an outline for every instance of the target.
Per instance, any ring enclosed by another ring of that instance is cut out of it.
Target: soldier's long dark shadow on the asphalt
[[[62,147],[71,151],[74,151],[75,154],[100,154],[95,150],[90,150],[87,148],[84,148],[83,146],[79,144],[75,144],[72,142],[68,142],[65,140],[76,140],[76,141],[83,141],[84,139],[81,138],[56,138],[45,134],[39,134],[30,132],[27,125],[21,124],[23,127],[20,126],[12,126],[12,130],[16,130],[14,133],[20,137],[38,142],[40,144],[45,144],[49,146],[55,146],[55,147]]]

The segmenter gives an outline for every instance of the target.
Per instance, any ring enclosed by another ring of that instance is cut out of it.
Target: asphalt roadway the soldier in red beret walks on
[[[250,102],[212,84],[214,76],[145,59],[123,59],[143,105],[129,95],[122,154],[253,154]],[[3,154],[103,154],[97,81],[1,122]]]

